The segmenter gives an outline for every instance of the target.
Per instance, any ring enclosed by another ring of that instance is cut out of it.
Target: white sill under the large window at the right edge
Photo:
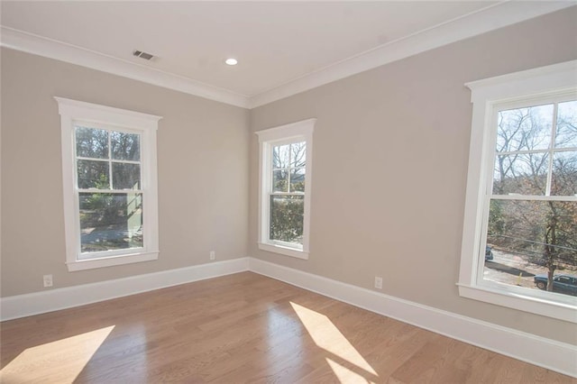
[[[560,303],[545,298],[533,297],[517,292],[508,292],[500,289],[457,284],[461,297],[472,298],[498,306],[507,306],[521,311],[544,315],[559,320],[577,324],[577,306],[569,303]],[[569,300],[572,297],[567,297]],[[569,301],[568,300],[568,301]]]

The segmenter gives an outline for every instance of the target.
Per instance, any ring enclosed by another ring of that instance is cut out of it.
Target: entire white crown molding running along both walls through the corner
[[[520,23],[543,14],[550,14],[574,4],[571,1],[505,1],[491,5],[472,14],[465,14],[449,22],[438,24],[425,31],[414,33],[396,41],[389,41],[374,50],[343,59],[324,69],[318,69],[253,96],[240,95],[191,78],[160,69],[152,69],[128,60],[114,58],[100,52],[5,26],[0,26],[0,46],[101,70],[124,78],[132,78],[189,95],[252,109],[399,59],[405,59],[426,50],[433,50],[454,41],[461,41],[510,24]]]

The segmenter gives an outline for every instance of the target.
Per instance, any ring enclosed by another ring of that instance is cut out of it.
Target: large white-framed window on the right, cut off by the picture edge
[[[576,66],[467,84],[463,297],[577,323],[577,292],[560,288],[577,276]]]

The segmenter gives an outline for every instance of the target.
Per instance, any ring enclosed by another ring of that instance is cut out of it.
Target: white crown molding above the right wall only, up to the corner
[[[433,50],[455,41],[461,41],[481,33],[520,23],[534,17],[550,14],[575,5],[574,2],[517,2],[506,1],[465,14],[449,22],[438,24],[408,37],[389,41],[374,50],[368,50],[344,59],[324,69],[319,69],[279,87],[252,96],[249,108],[266,105],[309,89],[320,87],[341,78],[374,69],[399,59],[405,59],[426,50]]]

